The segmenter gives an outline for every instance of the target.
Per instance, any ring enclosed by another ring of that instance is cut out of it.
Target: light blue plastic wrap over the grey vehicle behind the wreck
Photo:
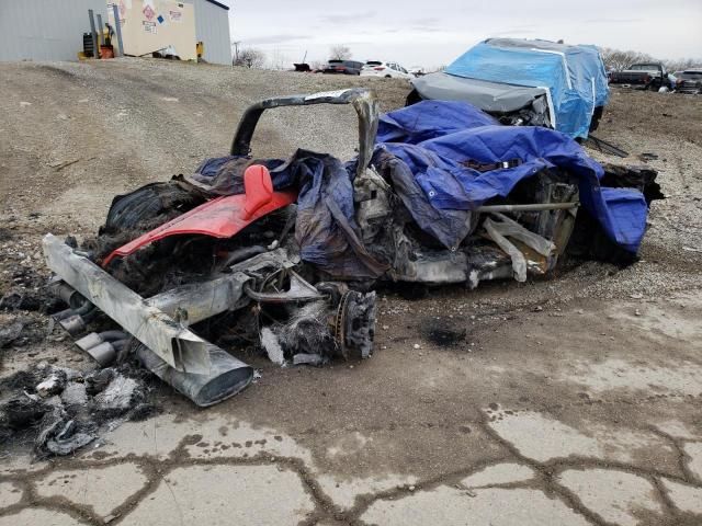
[[[445,72],[456,77],[545,88],[555,128],[588,136],[592,113],[607,104],[604,65],[595,46],[533,41],[488,39],[458,57]]]

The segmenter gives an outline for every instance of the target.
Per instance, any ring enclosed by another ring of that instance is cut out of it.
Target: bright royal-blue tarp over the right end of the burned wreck
[[[579,176],[580,202],[608,237],[635,253],[644,237],[648,207],[632,188],[600,186],[602,167],[580,145],[553,129],[501,126],[466,102],[423,101],[381,117],[378,147],[400,159],[437,210],[474,209],[487,199],[507,196],[514,185],[546,168]],[[514,168],[479,172],[466,162],[492,163],[519,159]],[[437,232],[435,218],[409,208],[419,226],[445,247],[461,232]]]

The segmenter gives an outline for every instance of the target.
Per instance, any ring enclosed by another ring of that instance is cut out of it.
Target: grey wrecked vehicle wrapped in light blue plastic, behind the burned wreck
[[[545,126],[573,138],[595,132],[609,98],[595,46],[488,38],[444,71],[411,81],[407,104],[466,101],[502,124]]]

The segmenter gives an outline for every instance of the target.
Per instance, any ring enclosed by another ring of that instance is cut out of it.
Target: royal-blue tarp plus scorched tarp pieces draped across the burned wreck
[[[241,193],[250,163],[269,168],[275,190],[298,190],[295,237],[304,261],[332,276],[358,279],[380,277],[389,267],[392,254],[378,261],[370,254],[375,247],[362,241],[355,161],[344,165],[306,150],[286,161],[235,156],[205,160],[192,178],[215,193]],[[475,163],[507,168],[476,170]],[[417,226],[450,250],[466,239],[473,210],[554,168],[577,176],[584,211],[619,248],[635,254],[646,228],[644,195],[602,186],[602,167],[574,139],[543,127],[500,125],[465,102],[423,101],[382,116],[371,167],[386,173]]]

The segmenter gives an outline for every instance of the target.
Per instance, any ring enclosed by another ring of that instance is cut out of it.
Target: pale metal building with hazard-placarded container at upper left
[[[181,48],[191,58],[197,42],[204,45],[203,58],[212,64],[231,64],[229,37],[229,8],[216,0],[181,0],[194,10],[194,41],[191,30],[179,35]],[[128,7],[129,11],[141,15],[141,9],[151,5],[154,16],[144,22],[141,30],[161,32],[157,24],[168,24],[168,14],[159,16],[160,0],[0,0],[0,60],[77,60],[83,49],[83,33],[90,33],[88,10],[107,22],[107,5]],[[181,3],[181,5],[182,5]],[[132,9],[132,8],[136,9]],[[112,7],[110,7],[112,13]],[[192,13],[192,12],[191,12]],[[158,22],[157,22],[158,21]],[[135,21],[143,22],[143,21]],[[97,23],[97,21],[95,21]],[[190,21],[192,24],[192,19]],[[184,26],[185,24],[183,24]],[[176,26],[169,27],[173,31]],[[162,27],[166,30],[166,26]],[[125,52],[128,54],[127,38],[136,33],[125,31]],[[162,38],[161,38],[162,39]],[[139,38],[141,41],[141,38]],[[141,42],[140,42],[141,43]],[[116,41],[113,42],[116,47]],[[143,46],[137,46],[139,49]],[[192,50],[190,49],[192,47]],[[151,50],[158,49],[147,49]]]

